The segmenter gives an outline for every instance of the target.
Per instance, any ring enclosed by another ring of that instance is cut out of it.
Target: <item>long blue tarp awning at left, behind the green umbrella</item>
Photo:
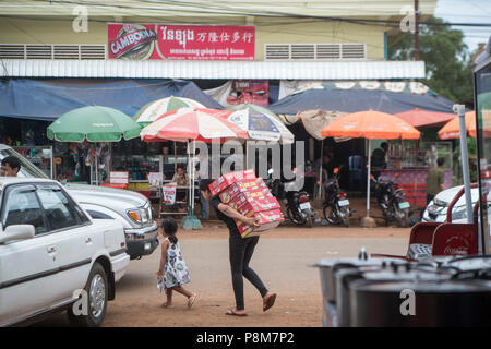
[[[75,108],[97,105],[135,115],[147,103],[178,96],[223,109],[193,82],[177,80],[10,79],[0,81],[0,117],[53,121]]]

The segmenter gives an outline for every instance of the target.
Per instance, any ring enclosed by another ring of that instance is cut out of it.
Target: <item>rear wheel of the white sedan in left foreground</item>
[[[97,327],[106,316],[109,296],[106,270],[99,263],[95,263],[92,267],[84,291],[87,294],[87,304],[85,306],[87,312],[85,314],[83,312],[82,314],[76,314],[80,312],[75,313],[74,306],[70,306],[68,310],[69,322],[74,326]]]

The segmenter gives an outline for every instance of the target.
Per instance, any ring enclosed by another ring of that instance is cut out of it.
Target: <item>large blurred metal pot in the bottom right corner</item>
[[[414,292],[414,314],[407,313],[410,299],[403,290]],[[491,325],[490,281],[358,279],[349,297],[351,326]]]

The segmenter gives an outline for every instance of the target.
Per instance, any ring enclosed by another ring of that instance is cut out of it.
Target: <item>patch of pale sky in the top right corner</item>
[[[491,36],[491,0],[438,0],[434,15],[446,22],[490,24],[489,27],[455,27],[464,32],[470,52],[477,49],[478,43],[488,43]]]

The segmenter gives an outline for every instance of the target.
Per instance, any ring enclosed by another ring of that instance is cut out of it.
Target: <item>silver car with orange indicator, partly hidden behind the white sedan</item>
[[[47,178],[21,154],[0,144],[0,160],[7,156],[14,156],[21,161],[19,177]],[[128,190],[86,184],[68,183],[65,189],[93,219],[116,219],[122,224],[131,260],[152,254],[158,246],[157,222],[145,196]]]

